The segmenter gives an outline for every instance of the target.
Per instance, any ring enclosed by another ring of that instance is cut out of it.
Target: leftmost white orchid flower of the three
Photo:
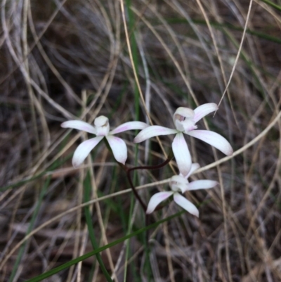
[[[82,122],[81,120],[69,120],[63,122],[61,127],[74,128],[91,134],[96,134],[96,137],[82,142],[75,150],[72,158],[72,165],[74,167],[79,167],[91,150],[93,150],[104,137],[110,144],[110,148],[112,149],[112,153],[117,162],[121,162],[124,165],[128,156],[126,143],[122,139],[115,137],[114,134],[126,132],[131,129],[145,129],[145,127],[148,127],[148,124],[145,124],[144,122],[125,122],[110,132],[108,118],[101,115],[100,117],[96,117],[94,126],[87,122]]]

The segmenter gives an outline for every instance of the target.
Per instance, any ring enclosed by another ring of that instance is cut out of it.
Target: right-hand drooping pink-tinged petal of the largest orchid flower
[[[216,132],[210,132],[209,130],[192,130],[192,132],[187,132],[187,134],[214,146],[226,155],[233,154],[233,148],[230,146],[230,143]]]

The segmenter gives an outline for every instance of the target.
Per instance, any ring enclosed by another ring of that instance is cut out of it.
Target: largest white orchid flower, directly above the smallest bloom
[[[139,143],[154,136],[176,134],[171,146],[176,163],[178,164],[178,169],[183,176],[186,176],[190,171],[192,161],[183,134],[188,134],[209,143],[226,155],[233,154],[233,148],[230,146],[230,143],[220,134],[210,132],[209,130],[195,130],[197,129],[196,122],[215,110],[218,110],[218,105],[215,103],[200,105],[195,110],[183,107],[178,108],[173,117],[176,129],[152,125],[143,129],[133,141]]]

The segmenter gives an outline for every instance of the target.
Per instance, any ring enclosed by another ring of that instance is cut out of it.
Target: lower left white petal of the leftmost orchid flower
[[[97,146],[101,139],[103,139],[103,136],[97,136],[82,142],[74,152],[72,165],[74,167],[79,167],[79,165],[84,162],[84,160],[87,158],[87,155],[89,155],[91,150]]]

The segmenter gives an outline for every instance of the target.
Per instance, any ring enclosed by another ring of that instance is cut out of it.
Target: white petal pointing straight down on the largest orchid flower
[[[183,177],[188,175],[191,168],[191,156],[188,150],[188,144],[186,143],[183,134],[179,132],[176,134],[173,143],[171,144],[178,169],[183,174]]]

